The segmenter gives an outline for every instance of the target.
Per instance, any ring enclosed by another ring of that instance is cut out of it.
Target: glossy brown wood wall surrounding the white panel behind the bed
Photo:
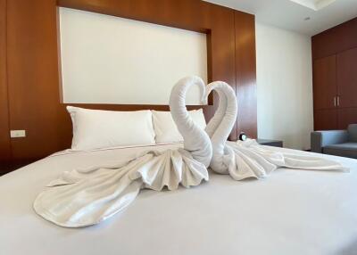
[[[0,0],[0,160],[31,160],[68,148],[71,119],[62,104],[57,6],[148,21],[208,35],[210,80],[237,91],[240,131],[256,136],[254,16],[199,0]],[[214,105],[205,107],[208,119]],[[95,109],[168,110],[167,106],[79,105]],[[25,138],[10,139],[13,129]]]

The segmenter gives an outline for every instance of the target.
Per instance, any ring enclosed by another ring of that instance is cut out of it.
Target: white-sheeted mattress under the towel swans
[[[64,170],[151,149],[62,152],[0,177],[0,254],[357,254],[357,160],[328,155],[320,156],[351,172],[278,169],[241,182],[210,172],[209,182],[191,189],[144,190],[127,210],[78,229],[55,226],[32,209]]]

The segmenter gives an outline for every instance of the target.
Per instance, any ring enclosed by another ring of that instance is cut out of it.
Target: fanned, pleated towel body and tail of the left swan
[[[119,165],[64,172],[37,196],[34,209],[59,226],[90,226],[124,210],[143,188],[176,190],[208,181],[204,165],[183,150],[146,152]]]

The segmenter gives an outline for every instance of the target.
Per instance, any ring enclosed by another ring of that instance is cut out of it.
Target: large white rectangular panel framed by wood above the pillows
[[[179,78],[207,82],[202,33],[61,7],[60,35],[63,103],[168,104]]]

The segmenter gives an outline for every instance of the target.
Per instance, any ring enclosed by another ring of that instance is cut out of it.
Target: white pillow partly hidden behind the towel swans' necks
[[[198,127],[202,129],[206,127],[206,120],[204,119],[202,109],[188,111],[188,114]],[[177,143],[184,140],[179,134],[178,127],[176,127],[170,111],[153,111],[153,122],[157,144]]]

